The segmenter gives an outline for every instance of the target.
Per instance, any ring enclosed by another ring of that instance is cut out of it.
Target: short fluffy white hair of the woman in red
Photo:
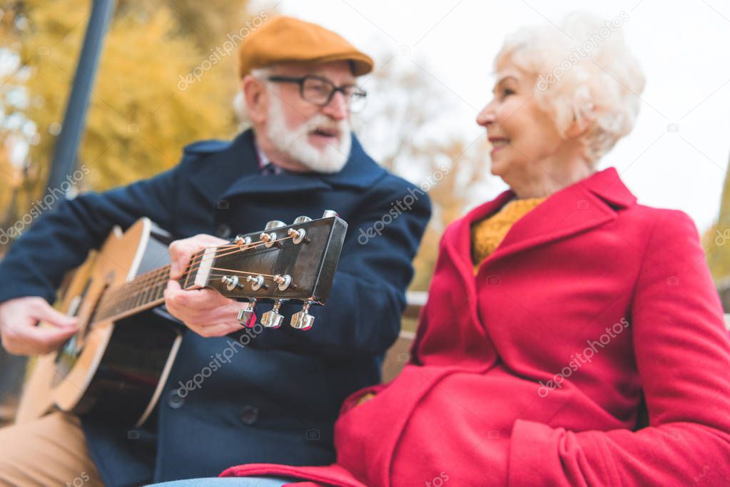
[[[498,72],[511,63],[537,76],[534,96],[561,136],[574,121],[585,122],[582,141],[593,165],[631,132],[639,114],[645,77],[620,31],[627,20],[623,11],[611,20],[576,12],[558,26],[521,28],[494,60]]]

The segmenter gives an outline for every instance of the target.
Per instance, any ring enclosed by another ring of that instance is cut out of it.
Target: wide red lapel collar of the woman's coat
[[[478,206],[456,223],[447,249],[464,276],[473,279],[471,226],[493,214],[515,197],[507,190]],[[618,211],[636,204],[637,198],[623,184],[615,168],[607,168],[550,195],[512,225],[497,249],[486,260],[494,260],[548,244],[610,222]]]

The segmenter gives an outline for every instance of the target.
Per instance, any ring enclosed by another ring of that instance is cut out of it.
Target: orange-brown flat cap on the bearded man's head
[[[373,67],[369,55],[358,51],[339,34],[286,16],[273,17],[243,39],[238,60],[240,78],[252,69],[278,63],[350,61],[355,76],[367,74]]]

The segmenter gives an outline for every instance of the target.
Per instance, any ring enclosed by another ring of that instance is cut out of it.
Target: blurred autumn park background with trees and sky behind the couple
[[[648,83],[633,133],[604,157],[639,202],[696,222],[730,310],[730,4],[721,0],[561,2],[442,0],[117,0],[90,91],[69,195],[107,190],[175,165],[182,147],[242,127],[236,48],[278,14],[320,23],[376,60],[360,79],[368,105],[353,125],[364,147],[416,184],[434,171],[434,217],[410,297],[428,289],[445,226],[506,189],[489,173],[475,123],[491,97],[491,63],[506,34],[588,10],[627,20],[621,31]],[[51,161],[88,27],[90,0],[0,2],[0,258],[45,211]],[[233,48],[231,49],[231,46]],[[191,77],[191,74],[193,75]],[[404,319],[413,330],[415,319]],[[0,397],[22,362],[0,352]]]

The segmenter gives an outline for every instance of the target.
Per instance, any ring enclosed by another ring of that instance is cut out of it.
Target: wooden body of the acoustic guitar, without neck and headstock
[[[117,322],[91,322],[107,289],[168,262],[167,246],[160,241],[164,235],[155,231],[145,218],[125,233],[115,229],[74,273],[59,308],[77,316],[80,332],[58,351],[35,360],[17,422],[55,408],[76,414],[100,409],[130,426],[150,415],[180,346],[180,327],[153,311]]]

